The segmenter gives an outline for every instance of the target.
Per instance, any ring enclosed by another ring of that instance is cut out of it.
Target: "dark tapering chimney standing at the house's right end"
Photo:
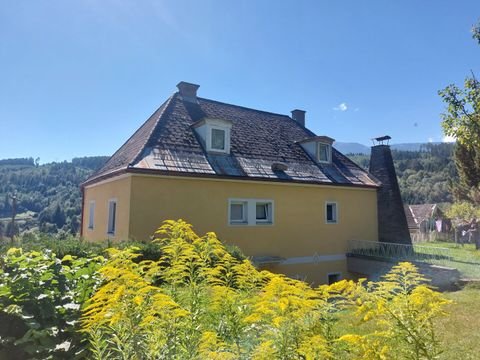
[[[384,141],[388,142],[390,137],[383,136],[373,140],[376,140],[377,145],[374,142],[372,146],[370,173],[382,183],[377,190],[378,240],[411,245],[412,240],[408,231],[392,152],[390,146],[384,144]]]

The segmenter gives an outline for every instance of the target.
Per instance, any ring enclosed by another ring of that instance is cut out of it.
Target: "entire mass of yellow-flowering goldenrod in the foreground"
[[[433,359],[433,319],[448,302],[408,263],[379,283],[316,289],[234,258],[182,220],[155,233],[158,260],[108,250],[82,327],[96,359]],[[340,316],[376,330],[348,334]]]

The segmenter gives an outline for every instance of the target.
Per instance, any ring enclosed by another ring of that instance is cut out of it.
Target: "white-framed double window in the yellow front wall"
[[[230,225],[272,225],[273,200],[229,199],[228,223]]]

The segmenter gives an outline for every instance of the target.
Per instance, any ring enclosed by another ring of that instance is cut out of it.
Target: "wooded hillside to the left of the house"
[[[9,195],[16,193],[17,223],[22,232],[40,229],[50,234],[60,230],[76,234],[80,225],[80,183],[106,159],[85,157],[44,165],[33,158],[0,160],[0,222],[11,217]]]

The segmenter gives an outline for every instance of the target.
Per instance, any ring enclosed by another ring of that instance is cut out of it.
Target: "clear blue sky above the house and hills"
[[[111,155],[181,81],[338,141],[442,141],[480,1],[0,0],[0,158]]]

